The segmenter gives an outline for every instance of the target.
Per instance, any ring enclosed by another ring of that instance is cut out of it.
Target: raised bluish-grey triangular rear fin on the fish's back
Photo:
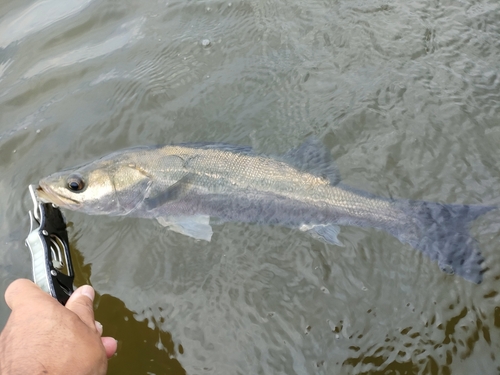
[[[331,185],[340,182],[340,173],[333,164],[330,151],[314,137],[288,151],[283,159],[301,171],[327,178]]]

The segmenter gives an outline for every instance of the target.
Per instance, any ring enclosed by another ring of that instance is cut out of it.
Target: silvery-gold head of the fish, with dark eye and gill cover
[[[42,201],[91,215],[127,215],[147,196],[150,176],[128,160],[100,159],[39,182]]]

